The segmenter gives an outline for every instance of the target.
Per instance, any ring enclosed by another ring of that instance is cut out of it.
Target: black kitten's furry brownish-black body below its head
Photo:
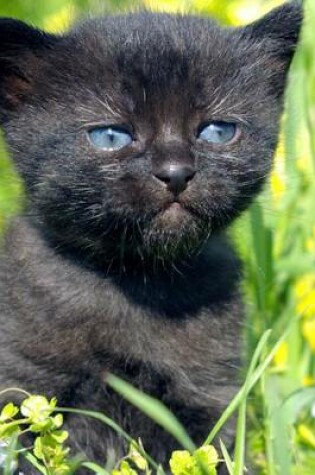
[[[136,270],[132,281],[56,259],[27,221],[16,224],[8,249],[10,295],[7,302],[2,297],[1,319],[11,324],[2,324],[7,343],[0,349],[6,386],[101,410],[165,460],[175,441],[106,388],[112,372],[164,401],[202,442],[235,393],[238,376],[238,269],[224,244],[214,240],[185,274],[144,280]],[[111,442],[114,434],[105,427],[94,440],[95,422],[89,428],[85,420],[79,430],[75,417],[73,424],[77,451],[104,456],[110,440],[116,455],[123,454],[123,441]]]

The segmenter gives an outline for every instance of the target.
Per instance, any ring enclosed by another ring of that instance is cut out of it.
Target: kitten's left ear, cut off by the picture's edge
[[[0,18],[0,119],[32,91],[33,78],[56,37],[25,23]]]

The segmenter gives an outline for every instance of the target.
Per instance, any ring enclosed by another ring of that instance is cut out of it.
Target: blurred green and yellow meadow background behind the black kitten
[[[240,25],[277,0],[0,0],[0,16],[11,16],[52,32],[66,29],[86,13],[124,11],[140,6],[162,11],[213,15]],[[315,2],[305,2],[307,21],[291,70],[286,111],[265,192],[235,224],[233,239],[245,262],[247,320],[244,355],[260,335],[274,340],[287,331],[273,364],[260,381],[248,411],[251,456],[261,474],[315,473]],[[0,150],[0,227],[18,211],[21,185],[4,145]],[[294,397],[292,396],[294,395]],[[297,409],[282,417],[283,401]],[[295,398],[295,399],[294,399]],[[288,425],[290,420],[290,425]]]

